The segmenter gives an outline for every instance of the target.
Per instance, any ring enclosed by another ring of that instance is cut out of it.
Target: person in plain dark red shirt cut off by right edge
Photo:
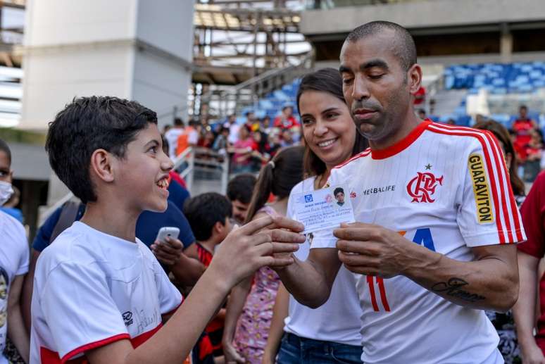
[[[520,290],[513,314],[523,362],[545,363],[545,279],[538,277],[539,260],[545,256],[545,172],[537,176],[520,212],[528,239],[517,246]],[[534,337],[538,282],[541,315]]]

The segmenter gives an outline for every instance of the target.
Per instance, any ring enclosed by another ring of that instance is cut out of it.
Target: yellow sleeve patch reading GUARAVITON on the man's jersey
[[[473,194],[475,194],[475,204],[477,205],[477,220],[480,224],[494,222],[492,213],[492,201],[490,198],[490,187],[488,183],[487,171],[484,169],[484,163],[480,154],[470,154],[468,167],[473,182]]]

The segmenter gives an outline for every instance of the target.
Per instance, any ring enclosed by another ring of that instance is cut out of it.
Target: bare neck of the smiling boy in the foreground
[[[81,219],[86,225],[127,241],[136,242],[136,222],[140,213],[128,213],[109,203],[87,203]]]

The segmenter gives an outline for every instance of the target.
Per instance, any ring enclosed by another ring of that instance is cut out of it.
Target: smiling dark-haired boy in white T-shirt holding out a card
[[[180,363],[234,284],[262,265],[293,263],[273,253],[296,250],[282,241],[304,240],[296,233],[302,226],[287,219],[233,232],[224,241],[230,249],[162,327],[182,297],[134,236],[142,211],[167,206],[173,163],[161,149],[156,113],[115,97],[75,99],[50,124],[46,151],[87,208],[38,259],[31,363]],[[275,229],[256,233],[268,225]]]

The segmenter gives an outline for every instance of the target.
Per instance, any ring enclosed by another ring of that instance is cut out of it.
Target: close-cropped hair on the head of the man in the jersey
[[[404,70],[409,70],[416,63],[416,46],[411,34],[401,25],[387,21],[374,21],[360,25],[352,30],[346,42],[358,42],[358,40],[370,35],[379,34],[384,30],[394,32],[394,42],[391,44],[392,53],[399,58],[399,64]]]

